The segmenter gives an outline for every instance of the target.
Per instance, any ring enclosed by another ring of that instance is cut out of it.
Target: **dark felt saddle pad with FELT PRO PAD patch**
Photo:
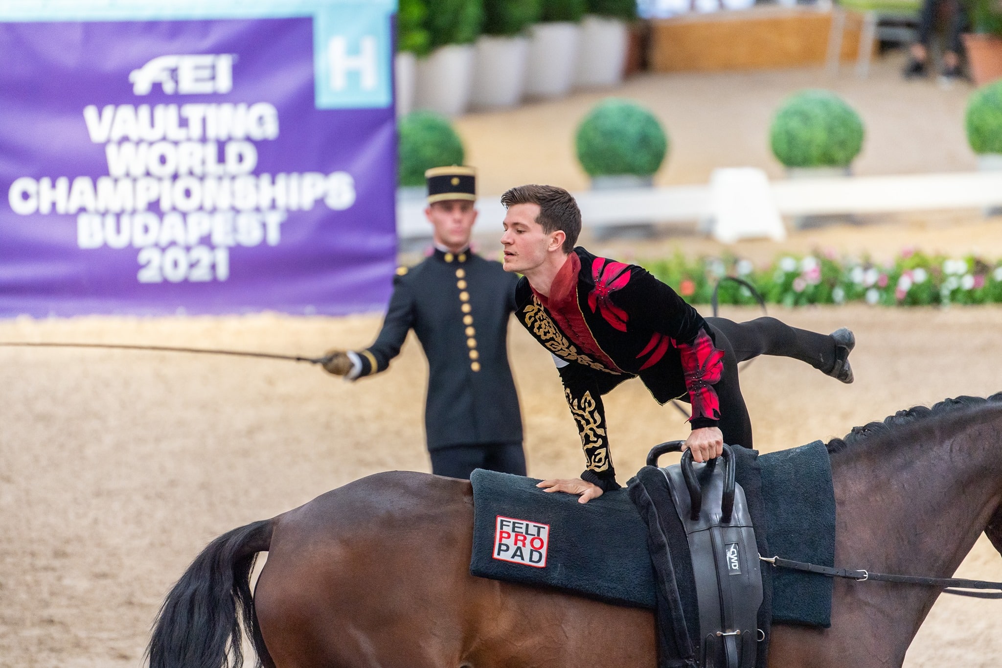
[[[797,561],[834,565],[835,494],[824,444],[770,453],[758,461],[770,551]],[[654,607],[647,529],[624,490],[579,504],[577,497],[543,492],[532,478],[477,470],[470,480],[471,574],[553,587],[619,605]],[[545,550],[534,554],[533,546]],[[831,624],[830,579],[779,569],[773,575],[774,621]]]

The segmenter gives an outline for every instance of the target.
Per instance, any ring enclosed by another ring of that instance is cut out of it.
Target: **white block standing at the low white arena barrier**
[[[709,176],[712,235],[721,243],[787,238],[766,172],[758,167],[714,169]]]

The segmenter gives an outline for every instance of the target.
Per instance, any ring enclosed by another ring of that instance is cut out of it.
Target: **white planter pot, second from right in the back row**
[[[570,91],[577,68],[580,34],[580,26],[564,21],[536,23],[529,27],[526,97],[561,97]]]

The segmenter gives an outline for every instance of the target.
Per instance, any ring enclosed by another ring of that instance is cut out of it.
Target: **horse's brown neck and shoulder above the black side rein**
[[[892,432],[833,456],[841,565],[934,576],[956,570],[1002,495],[1002,410],[964,418],[899,428],[915,443],[895,443]]]

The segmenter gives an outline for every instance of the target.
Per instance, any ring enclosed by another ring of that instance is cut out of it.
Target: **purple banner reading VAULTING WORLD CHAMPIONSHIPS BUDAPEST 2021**
[[[383,307],[393,108],[317,108],[314,20],[0,23],[0,315]]]

